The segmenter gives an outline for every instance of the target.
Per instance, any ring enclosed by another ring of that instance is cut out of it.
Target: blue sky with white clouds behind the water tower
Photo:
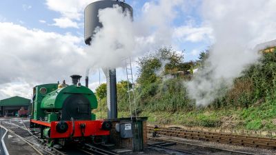
[[[96,54],[97,60],[94,59],[93,49],[83,39],[83,10],[93,1],[0,1],[0,99],[16,95],[30,98],[32,87],[43,83],[63,79],[71,83],[71,74],[85,76],[90,63],[83,62],[101,61]],[[150,39],[150,43],[139,47],[140,52],[133,54],[134,60],[161,45],[169,45],[184,54],[185,61],[195,60],[199,52],[213,43],[213,29],[202,17],[199,0],[126,0],[126,3],[134,10],[132,27],[137,28],[133,30],[134,37],[139,33],[140,38]],[[107,61],[103,59],[99,63]],[[92,90],[99,80],[106,81],[102,71],[99,78],[99,68],[90,70]],[[135,65],[133,70],[137,71]],[[124,79],[124,68],[117,66],[117,80]]]

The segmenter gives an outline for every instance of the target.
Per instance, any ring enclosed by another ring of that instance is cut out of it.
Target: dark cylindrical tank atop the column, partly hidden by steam
[[[95,1],[86,6],[86,9],[84,10],[84,40],[87,45],[90,45],[91,37],[95,33],[95,29],[97,27],[102,27],[101,23],[99,23],[99,10],[105,8],[112,8],[114,5],[121,6],[121,8],[123,8],[124,11],[128,10],[128,12],[130,12],[131,17],[133,17],[132,7],[127,3],[121,1]]]

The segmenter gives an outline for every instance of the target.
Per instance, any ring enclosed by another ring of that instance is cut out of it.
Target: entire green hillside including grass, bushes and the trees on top
[[[248,66],[233,87],[206,107],[189,99],[186,81],[195,69],[204,69],[208,50],[197,61],[185,62],[171,48],[161,48],[139,58],[135,97],[139,116],[152,124],[175,124],[246,130],[276,131],[276,52],[264,52],[259,63]],[[127,81],[117,84],[119,116],[130,116]],[[106,84],[96,92],[97,112],[106,112]]]

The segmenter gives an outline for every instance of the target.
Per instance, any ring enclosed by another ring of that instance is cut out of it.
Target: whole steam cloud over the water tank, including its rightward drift
[[[99,28],[86,48],[90,68],[118,68],[128,56],[141,56],[149,50],[171,45],[170,23],[177,14],[172,10],[184,1],[161,0],[144,5],[141,17],[133,21],[119,6],[99,10]]]

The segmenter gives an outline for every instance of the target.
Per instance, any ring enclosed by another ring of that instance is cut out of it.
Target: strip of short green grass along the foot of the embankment
[[[96,112],[97,118],[106,118],[106,112]],[[102,116],[102,117],[101,117]],[[129,112],[118,116],[129,117]],[[193,110],[190,112],[144,111],[139,116],[148,116],[152,125],[184,125],[187,127],[216,127],[229,130],[276,131],[276,105],[250,107],[245,110]]]

